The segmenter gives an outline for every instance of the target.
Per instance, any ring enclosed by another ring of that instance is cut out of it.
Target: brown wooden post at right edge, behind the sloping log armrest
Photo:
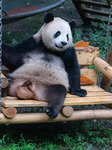
[[[112,44],[108,53],[107,63],[112,66]],[[112,81],[109,78],[107,78],[105,75],[102,75],[101,88],[103,88],[105,91],[109,91],[111,83]]]

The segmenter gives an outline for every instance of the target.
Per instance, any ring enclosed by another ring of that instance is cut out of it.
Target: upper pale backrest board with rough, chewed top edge
[[[90,65],[92,64],[92,60],[94,57],[99,56],[99,48],[98,47],[75,47],[78,62],[80,65]]]

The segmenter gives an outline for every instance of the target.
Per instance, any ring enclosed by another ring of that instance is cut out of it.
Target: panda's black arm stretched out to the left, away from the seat
[[[27,52],[33,51],[38,43],[34,37],[29,37],[22,42],[15,45],[2,44],[2,64],[10,71],[14,71],[20,67],[24,62],[23,58]]]

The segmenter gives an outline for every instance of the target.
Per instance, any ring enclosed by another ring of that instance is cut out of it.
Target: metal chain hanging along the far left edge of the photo
[[[1,72],[2,72],[2,0],[0,0],[0,112],[1,112]]]

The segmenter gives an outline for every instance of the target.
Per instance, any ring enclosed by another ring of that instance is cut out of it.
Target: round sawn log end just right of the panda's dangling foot
[[[61,112],[65,117],[70,117],[73,113],[73,108],[71,106],[65,106],[62,108]]]

